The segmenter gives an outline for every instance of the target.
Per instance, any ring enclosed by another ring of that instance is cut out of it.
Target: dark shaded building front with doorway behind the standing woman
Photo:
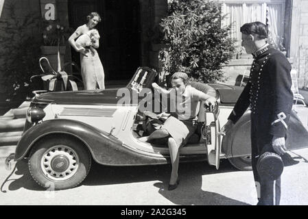
[[[73,29],[86,23],[90,12],[98,12],[102,16],[96,27],[101,35],[98,53],[106,80],[130,79],[139,66],[158,66],[155,29],[167,14],[167,0],[0,0],[1,21],[10,20],[12,4],[20,19],[41,14]],[[79,64],[80,57],[67,44],[65,61],[70,60]]]

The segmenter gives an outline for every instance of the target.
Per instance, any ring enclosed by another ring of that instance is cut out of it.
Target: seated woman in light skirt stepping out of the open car
[[[157,138],[169,137],[167,139],[172,170],[168,190],[174,190],[178,186],[179,149],[187,143],[189,137],[197,129],[198,103],[205,101],[206,105],[215,105],[216,102],[214,97],[191,87],[186,73],[174,73],[171,77],[171,85],[170,90],[165,90],[156,83],[152,83],[157,92],[170,96],[169,114],[165,112],[159,114],[159,117],[167,118],[165,123],[150,136],[139,139],[143,142],[151,142]],[[171,98],[171,96],[176,98]]]

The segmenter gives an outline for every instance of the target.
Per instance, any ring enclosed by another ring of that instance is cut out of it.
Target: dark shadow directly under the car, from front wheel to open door
[[[93,162],[88,177],[84,180],[84,185],[111,185],[118,183],[136,183],[143,181],[163,181],[169,182],[171,164],[155,166],[102,166]],[[223,160],[220,170],[214,166],[209,166],[206,162],[181,163],[179,175],[187,175],[193,178],[202,175],[212,175],[222,172],[238,171],[233,168],[227,160]]]

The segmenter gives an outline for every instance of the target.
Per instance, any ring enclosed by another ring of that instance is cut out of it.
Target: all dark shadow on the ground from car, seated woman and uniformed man
[[[171,165],[156,166],[102,166],[93,162],[91,170],[81,185],[115,185],[123,183],[154,182],[158,192],[176,205],[248,205],[215,192],[202,190],[202,177],[223,172],[239,171],[228,160],[221,161],[220,170],[209,166],[207,162],[181,163],[179,168],[180,184],[173,191],[168,191]],[[27,162],[16,163],[14,175],[6,182],[9,191],[21,188],[34,191],[45,191],[29,174]],[[222,182],[224,183],[224,182]],[[204,182],[203,182],[204,184]]]

